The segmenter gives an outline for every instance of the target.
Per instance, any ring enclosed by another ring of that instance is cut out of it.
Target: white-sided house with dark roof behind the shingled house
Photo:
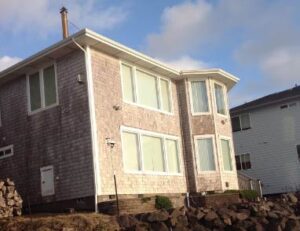
[[[263,194],[300,189],[300,86],[231,109],[237,169]]]

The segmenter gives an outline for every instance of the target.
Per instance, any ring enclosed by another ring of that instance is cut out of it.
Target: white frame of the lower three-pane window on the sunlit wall
[[[139,155],[139,161],[140,161],[140,167],[141,169],[139,171],[136,170],[129,170],[126,169],[124,166],[125,164],[125,159],[124,159],[124,140],[122,137],[123,132],[128,132],[128,133],[135,133],[137,134],[138,137],[138,155]],[[147,131],[143,129],[138,129],[138,128],[132,128],[132,127],[127,127],[127,126],[121,126],[120,127],[120,134],[121,134],[121,154],[122,154],[122,165],[123,165],[123,171],[124,173],[128,174],[144,174],[144,175],[164,175],[164,176],[183,176],[183,167],[182,167],[182,149],[181,149],[181,144],[180,141],[181,139],[178,136],[172,136],[172,135],[167,135],[163,133],[157,133],[157,132],[152,132],[152,131]],[[160,138],[162,140],[162,151],[163,151],[163,160],[164,160],[164,167],[165,171],[164,172],[155,172],[155,171],[146,171],[144,170],[144,158],[143,158],[143,149],[142,149],[142,136],[150,136],[150,137],[155,137],[155,138]],[[178,170],[179,172],[169,172],[169,164],[167,162],[167,148],[166,148],[166,140],[175,140],[177,144],[177,155],[178,155]]]

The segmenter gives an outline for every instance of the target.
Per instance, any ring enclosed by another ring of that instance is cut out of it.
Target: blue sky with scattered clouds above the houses
[[[299,0],[0,0],[0,71],[92,29],[174,68],[240,78],[230,105],[300,84]]]

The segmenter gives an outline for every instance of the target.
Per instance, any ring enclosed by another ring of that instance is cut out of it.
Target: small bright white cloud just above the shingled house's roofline
[[[210,67],[208,63],[194,59],[188,55],[181,56],[180,58],[174,60],[161,59],[161,61],[177,70],[195,70]]]

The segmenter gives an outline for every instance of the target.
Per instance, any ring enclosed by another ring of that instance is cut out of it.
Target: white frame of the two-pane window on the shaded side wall
[[[45,87],[44,87],[44,70],[48,67],[53,66],[54,67],[54,79],[55,79],[55,95],[56,95],[56,102],[52,105],[45,106]],[[29,78],[30,75],[38,73],[39,75],[39,85],[40,85],[40,96],[41,96],[41,107],[32,111],[31,110],[31,96],[30,96],[30,83]],[[27,92],[27,111],[28,115],[33,115],[36,113],[39,113],[41,111],[45,111],[47,109],[56,107],[59,105],[58,101],[58,83],[57,83],[57,64],[56,62],[46,63],[42,66],[39,66],[37,69],[32,70],[31,72],[28,72],[26,74],[26,92]]]

